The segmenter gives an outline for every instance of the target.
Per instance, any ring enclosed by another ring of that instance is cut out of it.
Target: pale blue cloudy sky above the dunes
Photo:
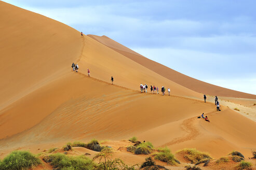
[[[185,75],[256,94],[256,1],[5,0]]]

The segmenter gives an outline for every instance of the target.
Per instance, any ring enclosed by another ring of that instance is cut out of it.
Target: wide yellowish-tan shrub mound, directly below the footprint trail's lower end
[[[200,152],[196,149],[183,149],[178,153],[184,153],[184,158],[191,161],[191,163],[196,163],[203,159],[212,159],[208,153]]]

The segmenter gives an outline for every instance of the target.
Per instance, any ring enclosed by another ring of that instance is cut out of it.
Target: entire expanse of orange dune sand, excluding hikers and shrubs
[[[12,150],[41,153],[69,141],[97,138],[106,140],[102,145],[111,146],[115,158],[140,164],[146,155],[125,148],[132,136],[173,153],[196,148],[218,159],[237,150],[252,157],[256,95],[187,77],[109,37],[81,37],[63,23],[4,2],[0,23],[0,159]],[[78,73],[72,62],[78,63]],[[140,93],[140,83],[165,86],[171,95],[152,94],[150,89]],[[214,95],[220,98],[219,112]],[[197,118],[203,112],[210,123]],[[69,152],[85,153],[91,158],[96,154],[85,148]],[[171,169],[184,169],[187,162],[176,157],[182,164]],[[221,169],[202,167],[209,168]]]

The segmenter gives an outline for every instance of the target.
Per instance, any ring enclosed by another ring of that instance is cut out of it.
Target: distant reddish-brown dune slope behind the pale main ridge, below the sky
[[[207,82],[203,82],[197,79],[194,79],[192,77],[188,77],[184,74],[181,74],[179,72],[176,72],[175,70],[166,67],[162,64],[159,64],[157,62],[154,62],[150,59],[147,59],[143,57],[142,55],[132,51],[131,49],[120,45],[113,39],[106,37],[106,36],[96,36],[96,35],[88,35],[89,37],[96,39],[100,43],[104,44],[107,47],[110,47],[111,49],[117,51],[120,54],[123,54],[124,56],[127,56],[127,58],[143,65],[146,68],[149,68],[153,70],[155,73],[174,81],[178,84],[181,84],[181,86],[184,86],[188,89],[194,90],[199,93],[205,93],[208,95],[218,95],[218,96],[226,96],[226,97],[239,97],[239,98],[253,98],[256,99],[256,95],[238,92],[235,90],[230,90],[226,88],[222,88],[219,86],[215,86],[213,84],[209,84]]]

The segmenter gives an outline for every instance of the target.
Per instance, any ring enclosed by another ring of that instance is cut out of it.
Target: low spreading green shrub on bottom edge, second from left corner
[[[48,160],[53,168],[59,170],[91,170],[93,167],[95,167],[95,164],[89,158],[84,157],[83,155],[78,157],[68,157],[62,153],[55,153],[43,159]]]

